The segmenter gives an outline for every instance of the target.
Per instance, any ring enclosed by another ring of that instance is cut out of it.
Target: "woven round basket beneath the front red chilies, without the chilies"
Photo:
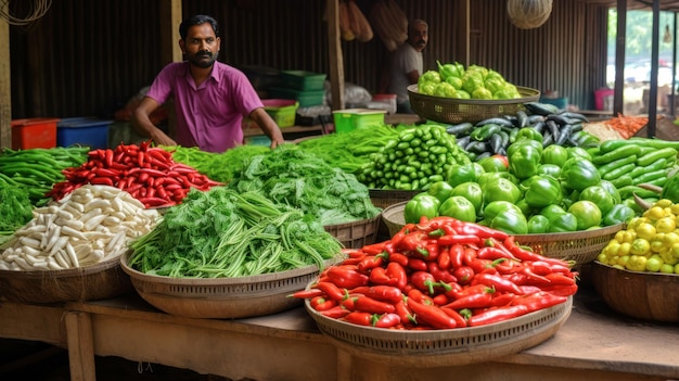
[[[305,301],[319,330],[337,347],[383,364],[443,367],[490,361],[538,345],[571,315],[573,296],[560,305],[507,321],[446,330],[390,330],[332,319]]]

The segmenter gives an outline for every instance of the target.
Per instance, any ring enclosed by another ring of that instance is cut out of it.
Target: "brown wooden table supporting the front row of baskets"
[[[588,288],[551,339],[522,353],[439,368],[388,366],[334,346],[303,307],[247,319],[189,319],[136,293],[60,306],[0,304],[0,336],[66,346],[72,380],[94,380],[94,356],[118,356],[258,381],[679,379],[679,326],[612,313]]]

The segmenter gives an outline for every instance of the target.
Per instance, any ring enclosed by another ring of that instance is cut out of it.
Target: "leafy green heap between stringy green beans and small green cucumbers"
[[[274,203],[302,209],[324,226],[369,219],[381,212],[356,176],[294,144],[251,157],[228,187],[260,192]]]

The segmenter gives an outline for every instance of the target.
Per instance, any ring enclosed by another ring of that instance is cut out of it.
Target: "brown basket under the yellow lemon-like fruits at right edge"
[[[650,321],[679,322],[679,275],[640,272],[594,261],[597,293],[613,310]]]

